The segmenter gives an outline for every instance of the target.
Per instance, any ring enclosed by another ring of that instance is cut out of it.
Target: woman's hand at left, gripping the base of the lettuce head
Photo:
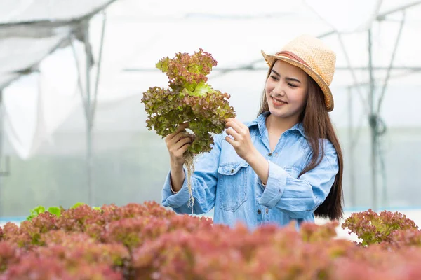
[[[189,123],[182,123],[176,132],[168,134],[165,139],[168,152],[170,153],[171,167],[182,167],[185,163],[183,154],[192,143],[191,134],[185,132],[187,127],[189,127]]]

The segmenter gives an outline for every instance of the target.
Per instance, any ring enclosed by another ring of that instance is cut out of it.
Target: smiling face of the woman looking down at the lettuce
[[[265,93],[273,116],[297,121],[307,99],[307,73],[276,60],[266,80]]]

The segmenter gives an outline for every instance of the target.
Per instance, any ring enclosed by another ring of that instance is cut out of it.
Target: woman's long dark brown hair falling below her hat
[[[267,78],[269,77],[274,63],[269,69]],[[335,176],[332,188],[326,200],[317,207],[314,214],[321,218],[330,218],[330,220],[338,220],[343,217],[343,195],[342,195],[342,173],[343,173],[343,158],[342,149],[333,128],[330,116],[326,110],[324,103],[323,92],[317,83],[307,75],[308,80],[308,94],[307,104],[305,109],[302,111],[300,116],[300,122],[302,123],[305,134],[308,137],[309,145],[312,148],[312,158],[307,166],[302,169],[300,176],[314,169],[321,162],[324,149],[323,145],[319,145],[320,139],[328,139],[336,150],[338,155],[338,166],[339,171]],[[269,111],[269,105],[267,104],[266,93],[263,90],[262,100],[260,102],[260,110],[258,116],[261,113]],[[319,156],[322,155],[322,156]]]

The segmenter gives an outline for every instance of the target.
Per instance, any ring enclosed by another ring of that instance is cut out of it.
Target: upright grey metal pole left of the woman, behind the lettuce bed
[[[95,193],[92,183],[92,109],[91,109],[91,45],[89,43],[89,22],[84,26],[84,42],[86,53],[86,164],[88,183],[88,204],[95,204]]]

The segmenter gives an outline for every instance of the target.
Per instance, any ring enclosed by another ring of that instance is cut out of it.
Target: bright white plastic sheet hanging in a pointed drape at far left
[[[84,66],[84,46],[75,42],[78,63]],[[60,65],[60,66],[58,66]],[[86,71],[81,69],[81,73]],[[29,158],[81,106],[79,73],[71,48],[57,50],[39,64],[39,71],[22,76],[4,89],[4,131],[20,158]]]

